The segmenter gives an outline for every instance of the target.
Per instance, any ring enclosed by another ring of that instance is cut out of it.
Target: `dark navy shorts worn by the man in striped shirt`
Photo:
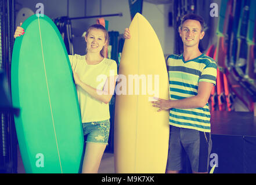
[[[181,171],[186,156],[194,172],[208,172],[212,141],[209,132],[170,126],[167,170]]]

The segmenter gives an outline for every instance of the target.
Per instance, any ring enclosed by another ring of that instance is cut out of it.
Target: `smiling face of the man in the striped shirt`
[[[182,28],[179,29],[183,45],[193,47],[199,45],[199,41],[204,37],[204,31],[201,31],[201,24],[197,20],[186,20]]]

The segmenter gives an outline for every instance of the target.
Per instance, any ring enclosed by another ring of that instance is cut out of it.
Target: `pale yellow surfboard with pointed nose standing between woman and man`
[[[152,97],[169,99],[163,50],[152,26],[137,13],[125,40],[116,87],[114,162],[116,173],[164,173],[169,112]]]

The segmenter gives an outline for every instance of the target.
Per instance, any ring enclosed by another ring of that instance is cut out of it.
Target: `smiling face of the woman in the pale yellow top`
[[[87,52],[100,53],[103,46],[106,45],[105,34],[101,29],[91,29],[85,37]]]

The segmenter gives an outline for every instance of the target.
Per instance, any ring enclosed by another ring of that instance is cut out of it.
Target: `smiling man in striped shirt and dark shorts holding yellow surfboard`
[[[204,37],[204,20],[186,14],[179,35],[183,41],[181,56],[167,58],[170,99],[154,101],[158,111],[170,109],[170,146],[167,173],[183,169],[186,155],[193,173],[207,173],[211,152],[211,124],[208,99],[216,83],[216,62],[199,50]]]

